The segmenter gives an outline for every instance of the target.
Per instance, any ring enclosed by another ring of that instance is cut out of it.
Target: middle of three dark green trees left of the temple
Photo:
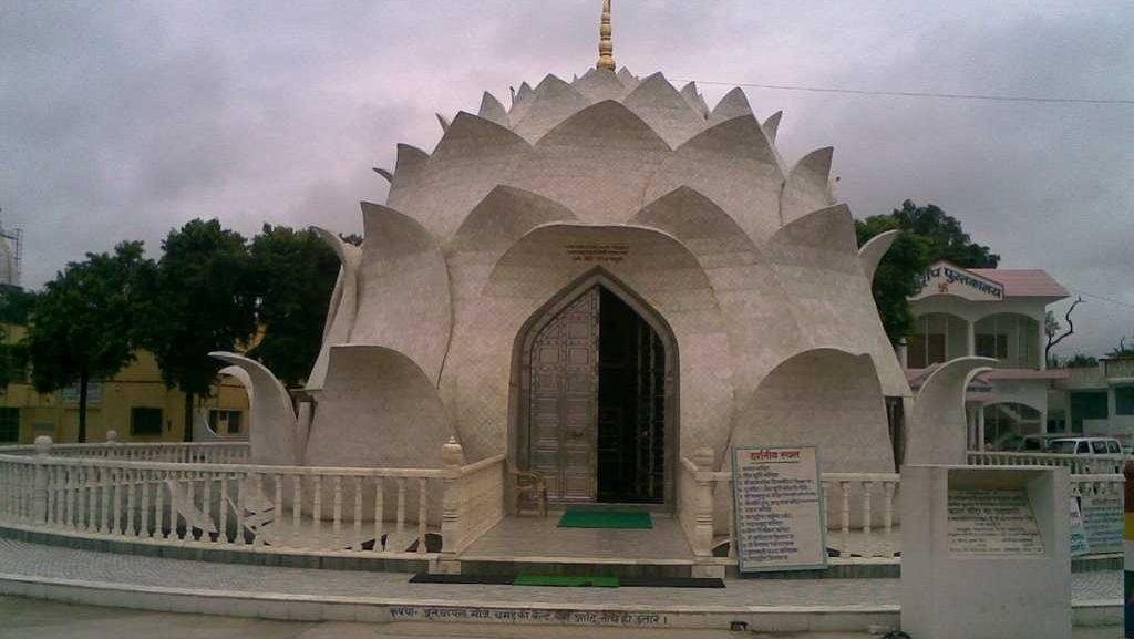
[[[195,219],[169,233],[147,283],[141,343],[153,352],[162,379],[185,393],[185,440],[193,439],[193,406],[208,396],[220,362],[256,331],[247,243],[220,221]]]

